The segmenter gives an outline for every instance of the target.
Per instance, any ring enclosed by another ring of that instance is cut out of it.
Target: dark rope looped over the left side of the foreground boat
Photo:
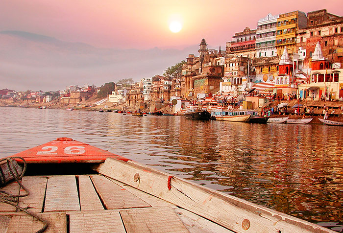
[[[21,174],[19,174],[20,172],[18,172],[18,163],[14,159],[22,160],[23,163],[24,163],[24,167],[23,167],[23,170],[22,170]],[[29,212],[27,210],[27,208],[22,208],[22,207],[16,205],[16,202],[18,201],[18,198],[26,197],[26,196],[29,195],[28,189],[21,182],[21,179],[23,178],[24,173],[26,171],[26,161],[25,161],[25,159],[22,158],[22,157],[3,158],[3,159],[0,160],[0,163],[3,162],[3,161],[6,161],[7,168],[9,170],[9,172],[11,173],[13,179],[18,183],[19,186],[21,186],[25,190],[25,194],[13,195],[13,194],[10,194],[10,193],[8,193],[6,191],[0,190],[0,202],[6,203],[8,205],[11,205],[11,206],[13,206],[13,207],[15,207],[15,208],[25,212],[27,215],[30,215],[33,218],[37,219],[38,221],[42,222],[44,224],[43,228],[41,228],[36,233],[43,233],[48,228],[47,221],[44,220],[43,218],[41,218],[40,216],[38,216],[37,214]],[[3,170],[2,170],[2,168],[0,166],[0,187],[6,185],[6,179],[8,179],[8,177],[5,176]]]

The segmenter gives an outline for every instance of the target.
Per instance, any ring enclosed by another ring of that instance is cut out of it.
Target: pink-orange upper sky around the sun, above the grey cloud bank
[[[343,16],[342,0],[1,0],[0,6],[0,31],[119,49],[183,48],[202,38],[223,47],[268,13],[327,9]],[[182,21],[179,33],[169,30],[173,16]]]

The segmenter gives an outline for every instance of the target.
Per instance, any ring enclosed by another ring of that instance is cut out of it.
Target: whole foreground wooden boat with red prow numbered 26
[[[14,156],[25,158],[19,180],[30,194],[14,206],[0,202],[4,233],[45,223],[49,233],[334,233],[68,138]],[[10,178],[8,163],[0,165]],[[8,180],[0,189],[25,192]]]

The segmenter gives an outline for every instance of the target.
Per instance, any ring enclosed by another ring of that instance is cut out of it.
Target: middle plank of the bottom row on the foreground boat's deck
[[[125,233],[118,211],[70,213],[70,233]]]

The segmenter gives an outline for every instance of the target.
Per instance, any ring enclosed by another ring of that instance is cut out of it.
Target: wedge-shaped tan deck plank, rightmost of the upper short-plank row
[[[107,210],[150,207],[145,201],[104,176],[94,175],[91,179]]]

